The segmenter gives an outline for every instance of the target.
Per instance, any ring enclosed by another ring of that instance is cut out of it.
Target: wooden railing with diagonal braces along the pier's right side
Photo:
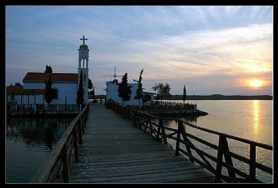
[[[248,139],[227,135],[207,128],[195,126],[192,123],[181,119],[169,119],[163,117],[155,117],[146,112],[134,110],[129,107],[120,105],[113,101],[108,101],[106,108],[111,108],[120,116],[131,121],[133,126],[138,126],[143,133],[149,133],[154,139],[164,144],[168,144],[175,149],[175,155],[186,155],[193,163],[197,163],[215,175],[215,182],[263,182],[256,177],[256,171],[261,170],[272,176],[272,168],[256,162],[256,148],[265,151],[272,151],[272,146],[261,144]],[[171,120],[178,122],[178,128],[170,128],[163,125],[163,121]],[[204,132],[204,134],[215,135],[218,137],[218,145],[212,144],[196,135],[186,133],[184,126]],[[183,137],[181,139],[181,136]],[[240,142],[249,145],[249,157],[240,155],[229,150],[229,142]],[[172,144],[170,144],[172,142]],[[193,142],[195,144],[193,144]],[[197,147],[203,144],[209,150],[214,150],[217,157]],[[174,146],[175,145],[175,146]],[[223,160],[224,156],[224,160]],[[243,170],[234,165],[234,160],[238,160],[246,164],[247,169]],[[224,170],[225,169],[225,170]]]

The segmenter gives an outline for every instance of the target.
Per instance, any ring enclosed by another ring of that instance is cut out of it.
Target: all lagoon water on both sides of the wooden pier
[[[190,123],[263,144],[273,144],[272,101],[213,100],[187,102],[197,103],[199,110],[208,112],[208,115],[197,117],[193,121],[190,120]],[[70,125],[70,121],[70,119],[53,119],[52,121],[7,119],[6,182],[28,182]],[[177,122],[167,122],[167,126],[177,128]],[[186,131],[197,135],[202,134],[188,126],[186,126]],[[218,139],[208,135],[202,135],[202,137],[217,144]],[[231,151],[236,150],[243,155],[246,151],[246,155],[248,155],[248,148],[246,147],[238,143],[229,143]],[[256,155],[258,162],[272,167],[272,152],[258,150]],[[235,162],[235,165],[244,164]],[[272,176],[260,171],[256,174],[265,182],[273,182]]]

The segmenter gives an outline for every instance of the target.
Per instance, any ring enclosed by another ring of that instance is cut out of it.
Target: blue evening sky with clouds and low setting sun
[[[142,69],[147,92],[273,92],[272,6],[6,6],[6,85],[47,65],[77,73],[83,35],[95,94]]]

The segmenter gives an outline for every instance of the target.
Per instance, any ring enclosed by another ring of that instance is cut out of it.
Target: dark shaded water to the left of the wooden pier
[[[72,120],[7,119],[6,182],[29,182]]]

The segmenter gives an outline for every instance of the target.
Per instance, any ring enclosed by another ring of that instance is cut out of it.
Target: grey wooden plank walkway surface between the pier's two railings
[[[215,176],[99,103],[88,121],[70,183],[202,183]]]

